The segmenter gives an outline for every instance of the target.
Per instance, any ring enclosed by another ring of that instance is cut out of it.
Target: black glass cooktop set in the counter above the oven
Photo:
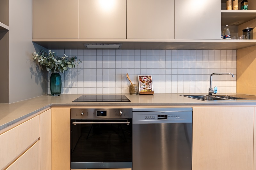
[[[83,95],[73,102],[127,102],[130,101],[123,94]]]

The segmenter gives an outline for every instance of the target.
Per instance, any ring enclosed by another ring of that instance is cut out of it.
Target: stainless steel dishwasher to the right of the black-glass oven
[[[132,170],[192,169],[192,108],[132,109]]]

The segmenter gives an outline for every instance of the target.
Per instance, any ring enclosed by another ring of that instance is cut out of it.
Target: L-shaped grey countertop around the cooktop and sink
[[[229,93],[236,94],[236,93]],[[60,96],[43,95],[11,104],[0,104],[0,130],[30,115],[53,106],[120,106],[120,107],[193,107],[199,105],[255,105],[253,101],[202,101],[180,96],[182,94],[130,95],[124,94],[131,102],[72,102],[84,94],[61,94]]]

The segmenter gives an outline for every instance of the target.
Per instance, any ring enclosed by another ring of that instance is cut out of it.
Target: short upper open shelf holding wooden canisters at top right
[[[238,26],[256,18],[256,10],[221,10],[221,25]]]

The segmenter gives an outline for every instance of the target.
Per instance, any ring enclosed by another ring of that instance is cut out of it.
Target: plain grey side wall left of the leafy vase
[[[32,59],[41,48],[32,43],[32,0],[9,0],[10,103],[47,93],[47,74]]]

